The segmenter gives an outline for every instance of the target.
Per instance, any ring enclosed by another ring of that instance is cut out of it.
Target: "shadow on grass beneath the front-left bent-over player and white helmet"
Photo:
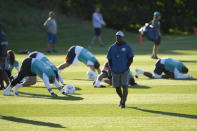
[[[30,98],[70,100],[70,101],[83,100],[82,97],[77,97],[77,96],[72,96],[72,95],[52,97],[51,95],[43,95],[43,94],[35,94],[35,93],[27,93],[27,92],[19,92],[19,95],[18,96],[20,96],[20,97],[30,97]]]

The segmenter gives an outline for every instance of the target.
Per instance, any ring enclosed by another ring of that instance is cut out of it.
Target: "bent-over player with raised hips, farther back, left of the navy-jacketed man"
[[[98,60],[93,56],[91,52],[81,46],[70,47],[66,56],[66,62],[59,65],[58,69],[62,70],[69,67],[71,64],[76,66],[78,60],[89,66],[90,70],[96,70],[98,74],[100,74],[101,70]]]

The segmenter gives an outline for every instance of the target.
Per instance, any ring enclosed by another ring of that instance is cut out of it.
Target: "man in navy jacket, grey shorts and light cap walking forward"
[[[116,42],[110,46],[107,54],[112,71],[112,86],[116,88],[116,92],[120,96],[119,106],[121,108],[125,108],[128,95],[129,67],[134,57],[131,47],[123,41],[123,37],[123,32],[118,31],[116,33]]]

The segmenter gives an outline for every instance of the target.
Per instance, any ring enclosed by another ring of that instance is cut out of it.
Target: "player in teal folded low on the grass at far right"
[[[172,58],[161,58],[157,61],[155,64],[155,69],[153,74],[150,72],[145,72],[140,69],[135,70],[135,76],[138,78],[139,74],[143,74],[149,78],[153,79],[193,79],[193,76],[186,75],[188,72],[188,68],[180,61],[174,60]],[[162,73],[165,73],[165,75],[162,75]]]

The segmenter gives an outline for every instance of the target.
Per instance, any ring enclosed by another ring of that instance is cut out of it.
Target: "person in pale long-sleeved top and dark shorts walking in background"
[[[93,48],[95,40],[98,40],[100,47],[103,48],[104,45],[101,39],[101,28],[102,26],[106,26],[106,23],[103,20],[102,14],[100,13],[100,8],[95,9],[95,12],[92,15],[92,24],[94,27],[95,35],[90,42],[89,48]]]

